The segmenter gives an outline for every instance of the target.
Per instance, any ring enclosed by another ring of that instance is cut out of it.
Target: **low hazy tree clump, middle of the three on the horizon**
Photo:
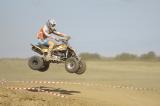
[[[121,53],[115,57],[115,60],[137,60],[138,56],[130,53]]]

